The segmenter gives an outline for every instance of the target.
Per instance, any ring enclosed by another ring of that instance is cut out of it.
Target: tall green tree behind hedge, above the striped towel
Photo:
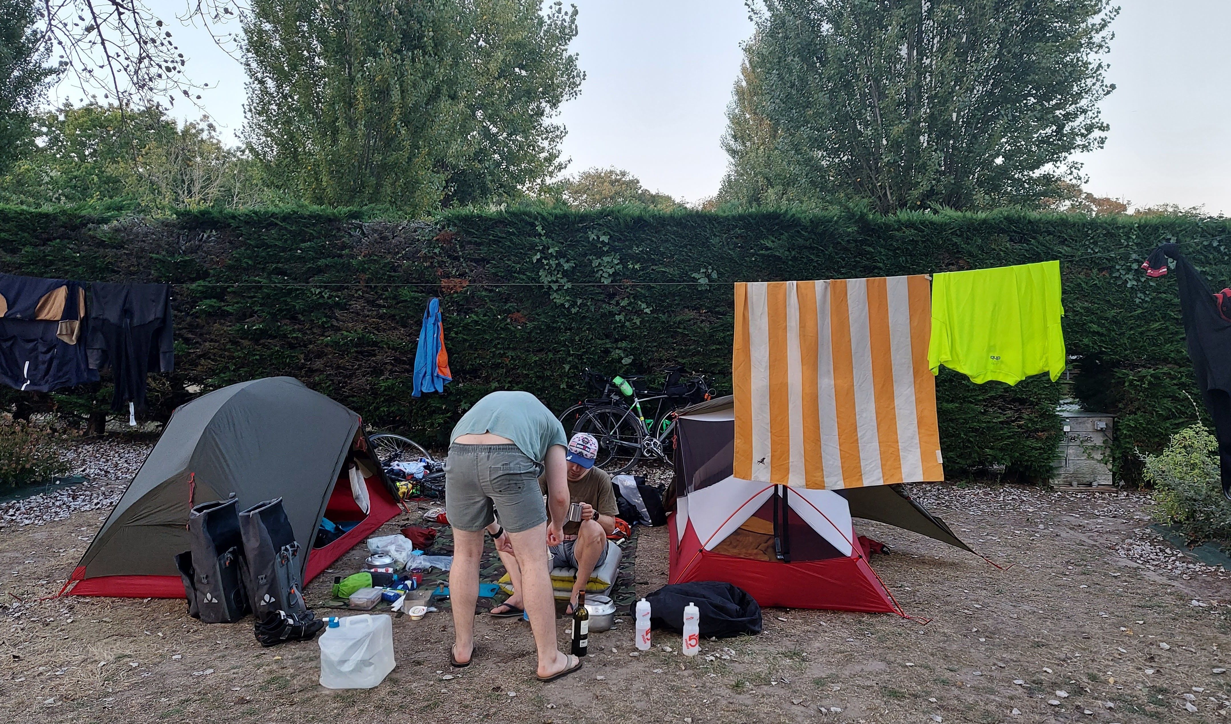
[[[1038,205],[1101,148],[1107,0],[766,0],[721,198]]]

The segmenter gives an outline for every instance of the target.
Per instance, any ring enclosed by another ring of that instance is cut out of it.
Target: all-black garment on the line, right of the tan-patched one
[[[145,407],[145,375],[175,369],[170,284],[90,285],[90,369],[111,365],[111,408]]]

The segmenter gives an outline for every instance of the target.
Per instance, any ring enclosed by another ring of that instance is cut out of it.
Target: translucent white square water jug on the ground
[[[393,620],[385,613],[332,617],[318,642],[321,686],[372,688],[393,671]]]

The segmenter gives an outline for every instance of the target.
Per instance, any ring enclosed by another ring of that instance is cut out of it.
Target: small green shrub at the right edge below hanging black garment
[[[1153,484],[1157,517],[1197,540],[1231,541],[1231,502],[1222,497],[1219,443],[1205,425],[1171,436],[1158,455],[1147,455],[1144,476]]]

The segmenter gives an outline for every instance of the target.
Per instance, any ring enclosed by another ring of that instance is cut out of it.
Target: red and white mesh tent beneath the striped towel
[[[970,551],[901,486],[826,490],[735,477],[730,397],[680,411],[676,435],[670,583],[731,583],[766,607],[904,615],[852,515]]]

